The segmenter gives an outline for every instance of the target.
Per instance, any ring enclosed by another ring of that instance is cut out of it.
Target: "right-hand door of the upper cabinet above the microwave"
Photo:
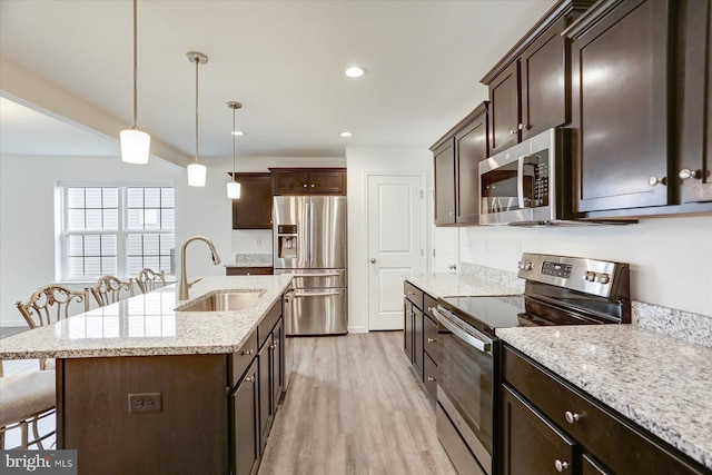
[[[522,73],[522,140],[552,127],[568,123],[566,92],[566,24],[562,18],[532,43],[520,59]]]

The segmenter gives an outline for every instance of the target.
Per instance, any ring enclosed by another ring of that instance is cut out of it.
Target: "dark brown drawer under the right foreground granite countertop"
[[[615,473],[629,473],[635,466],[644,474],[700,474],[694,462],[688,463],[652,434],[635,427],[601,403],[580,394],[580,389],[558,380],[546,369],[525,359],[510,347],[503,350],[503,380],[536,406],[558,427],[584,445]],[[566,420],[566,413],[577,417]]]

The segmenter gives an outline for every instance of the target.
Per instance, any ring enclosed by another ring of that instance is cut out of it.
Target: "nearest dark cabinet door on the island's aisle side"
[[[235,475],[251,475],[259,459],[259,392],[256,362],[245,374],[231,398],[231,469]]]

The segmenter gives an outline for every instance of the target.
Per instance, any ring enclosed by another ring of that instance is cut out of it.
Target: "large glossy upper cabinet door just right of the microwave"
[[[669,2],[631,0],[572,43],[578,211],[666,205]],[[575,34],[574,34],[575,36]]]

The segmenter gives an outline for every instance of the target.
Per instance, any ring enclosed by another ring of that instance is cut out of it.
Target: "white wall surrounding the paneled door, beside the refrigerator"
[[[368,227],[366,176],[370,171],[424,174],[426,194],[432,184],[433,156],[427,149],[347,147],[348,168],[348,331],[368,331]],[[431,200],[426,222],[433,222]],[[429,234],[428,234],[429,236]],[[426,256],[431,256],[431,244]]]

